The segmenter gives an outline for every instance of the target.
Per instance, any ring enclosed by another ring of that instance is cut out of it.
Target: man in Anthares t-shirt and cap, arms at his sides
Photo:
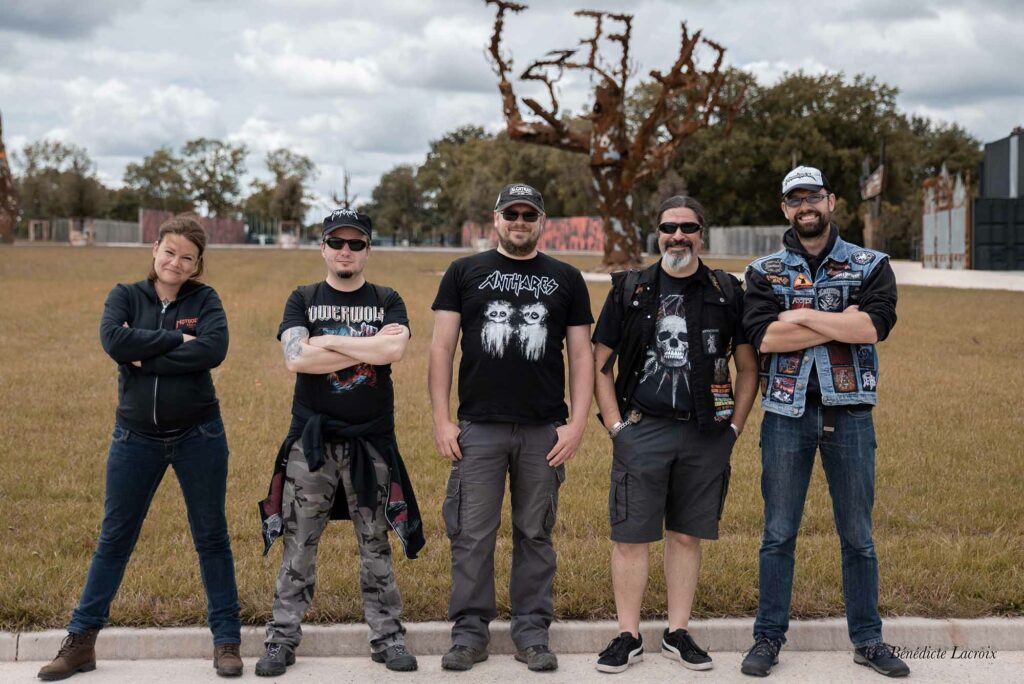
[[[590,310],[579,269],[538,252],[544,198],[512,183],[495,205],[498,249],[457,259],[434,299],[429,387],[434,440],[452,461],[442,514],[452,542],[452,649],[441,666],[486,659],[495,605],[495,541],[505,473],[512,497],[512,640],[532,671],[558,667],[548,648],[555,550],[551,530],[565,462],[583,438],[593,391]],[[459,423],[449,397],[462,334]],[[565,405],[562,342],[568,350]]]

